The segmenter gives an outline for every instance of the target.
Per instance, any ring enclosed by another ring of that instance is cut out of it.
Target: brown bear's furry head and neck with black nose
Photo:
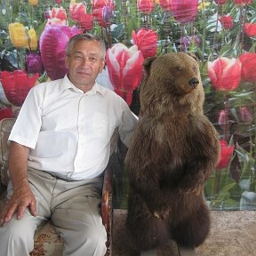
[[[166,53],[144,60],[140,115],[157,111],[203,113],[204,88],[196,56]]]

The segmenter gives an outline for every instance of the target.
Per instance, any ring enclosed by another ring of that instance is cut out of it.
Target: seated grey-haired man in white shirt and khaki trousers
[[[1,216],[1,255],[26,256],[36,227],[51,219],[63,255],[106,252],[100,217],[102,173],[118,127],[128,146],[137,119],[115,92],[95,82],[105,64],[98,36],[67,45],[68,75],[30,90],[10,135],[8,203]]]

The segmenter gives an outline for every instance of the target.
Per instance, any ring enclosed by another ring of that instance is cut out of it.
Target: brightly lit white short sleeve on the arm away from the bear
[[[42,125],[43,93],[40,93],[38,89],[39,85],[36,85],[28,92],[9,136],[9,140],[28,148],[36,148],[36,141]]]

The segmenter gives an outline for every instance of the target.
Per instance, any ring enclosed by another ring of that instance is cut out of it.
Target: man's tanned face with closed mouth
[[[92,89],[104,63],[99,42],[77,41],[70,55],[66,57],[68,78],[77,88],[87,92]]]

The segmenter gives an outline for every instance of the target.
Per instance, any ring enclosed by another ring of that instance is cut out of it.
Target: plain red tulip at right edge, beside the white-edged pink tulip
[[[241,76],[245,82],[256,82],[256,53],[243,53],[239,60],[242,63]]]

